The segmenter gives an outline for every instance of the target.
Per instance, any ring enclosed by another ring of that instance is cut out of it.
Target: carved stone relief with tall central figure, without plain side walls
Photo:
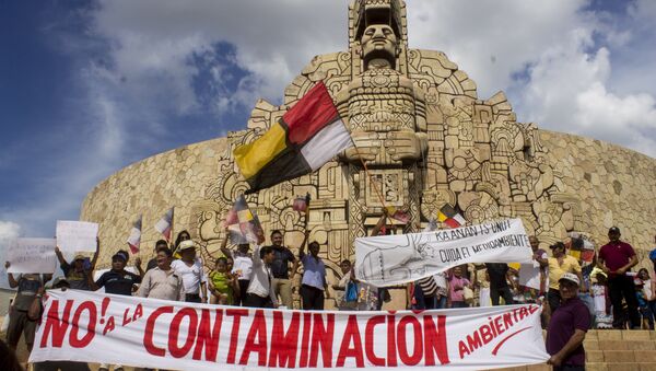
[[[353,240],[371,230],[383,205],[409,210],[408,225],[391,227],[399,232],[423,228],[445,204],[471,223],[522,218],[544,245],[587,227],[577,197],[559,186],[563,175],[546,161],[537,127],[517,123],[502,92],[480,100],[476,83],[443,53],[409,49],[402,1],[362,0],[349,9],[349,49],[315,57],[285,89],[283,105],[259,101],[248,128],[230,134],[219,178],[189,222],[210,254],[223,237],[222,212],[247,189],[232,150],[261,135],[319,80],[356,148],[247,200],[267,234],[284,230],[295,247],[302,222],[291,205],[309,193],[311,240],[321,244],[329,276],[353,257]]]

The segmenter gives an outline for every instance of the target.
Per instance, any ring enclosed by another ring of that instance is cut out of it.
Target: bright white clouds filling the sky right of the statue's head
[[[481,98],[509,92],[519,120],[656,156],[654,51],[641,43],[653,40],[654,3],[630,3],[625,22],[584,0],[409,1],[409,38],[445,51]],[[616,76],[613,60],[631,67]]]

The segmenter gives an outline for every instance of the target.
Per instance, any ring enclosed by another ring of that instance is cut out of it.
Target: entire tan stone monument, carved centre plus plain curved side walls
[[[260,100],[247,129],[113,175],[87,196],[82,219],[99,222],[103,240],[119,246],[134,215],[150,210],[145,225],[148,218],[154,223],[157,210],[176,206],[175,230],[189,230],[211,262],[224,237],[225,211],[248,188],[232,151],[262,135],[321,80],[356,148],[315,173],[248,195],[247,200],[267,235],[283,230],[285,243],[297,246],[302,220],[292,202],[309,193],[309,239],[321,246],[329,281],[339,278],[339,262],[353,258],[353,240],[368,234],[384,206],[406,208],[410,215],[407,224],[391,225],[395,233],[423,228],[449,204],[470,223],[522,218],[543,247],[570,232],[602,243],[611,224],[625,227],[624,236],[639,239],[630,240],[634,245],[651,241],[642,216],[653,220],[656,209],[640,199],[656,193],[656,161],[518,123],[502,92],[479,98],[476,83],[443,53],[408,47],[406,4],[400,0],[353,1],[349,49],[315,57],[288,85],[282,105]],[[162,189],[150,186],[152,176],[164,179]],[[126,179],[137,183],[122,184]],[[640,189],[625,189],[633,179],[643,182]],[[640,218],[625,208],[632,201],[631,210],[643,211]],[[116,205],[125,209],[105,213]],[[144,231],[150,244],[157,239],[151,232]]]

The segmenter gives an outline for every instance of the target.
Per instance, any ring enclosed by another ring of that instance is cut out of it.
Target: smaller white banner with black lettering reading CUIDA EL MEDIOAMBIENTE
[[[466,263],[531,263],[520,219],[423,233],[355,239],[355,276],[384,287]]]

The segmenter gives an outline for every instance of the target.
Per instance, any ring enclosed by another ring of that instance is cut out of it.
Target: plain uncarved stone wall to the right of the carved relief
[[[617,225],[622,240],[637,250],[641,267],[656,247],[656,160],[642,153],[590,138],[540,130],[554,172],[562,174],[565,193],[579,198],[581,213],[597,246],[608,241]]]

